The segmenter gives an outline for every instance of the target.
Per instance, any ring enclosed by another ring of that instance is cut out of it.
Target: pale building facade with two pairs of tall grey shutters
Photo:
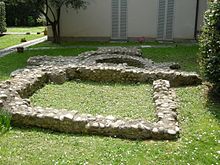
[[[62,9],[61,39],[193,40],[206,9],[207,0],[91,0],[85,10]]]

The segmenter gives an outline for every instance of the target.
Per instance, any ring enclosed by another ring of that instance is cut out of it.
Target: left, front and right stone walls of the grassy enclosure
[[[37,126],[68,133],[87,133],[128,139],[176,139],[179,135],[175,92],[169,81],[153,83],[158,121],[92,116],[66,110],[31,107],[19,93],[41,88],[47,82],[46,72],[34,69],[15,76],[0,85],[0,107],[12,115],[14,125]],[[34,92],[33,91],[33,92]],[[24,96],[23,96],[24,97]]]

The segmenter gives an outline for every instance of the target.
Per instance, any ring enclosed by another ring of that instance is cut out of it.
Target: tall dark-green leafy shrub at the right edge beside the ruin
[[[220,2],[209,3],[200,36],[200,68],[205,80],[220,92]]]

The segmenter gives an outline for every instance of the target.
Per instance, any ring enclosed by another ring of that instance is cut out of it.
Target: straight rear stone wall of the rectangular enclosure
[[[73,66],[66,67],[66,78],[91,80],[91,81],[107,81],[107,82],[141,82],[152,83],[158,79],[170,81],[172,87],[198,85],[201,79],[197,74],[187,72],[177,72],[174,70],[145,70],[131,69],[124,66]],[[61,69],[62,70],[62,69]],[[59,72],[65,72],[65,70]],[[55,72],[57,75],[57,72]],[[55,80],[55,79],[53,79]],[[60,80],[58,80],[60,81]],[[56,81],[54,81],[56,82]]]

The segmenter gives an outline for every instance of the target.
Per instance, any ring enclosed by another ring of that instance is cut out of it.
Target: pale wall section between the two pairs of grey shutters
[[[157,37],[157,0],[128,0],[128,37]]]

